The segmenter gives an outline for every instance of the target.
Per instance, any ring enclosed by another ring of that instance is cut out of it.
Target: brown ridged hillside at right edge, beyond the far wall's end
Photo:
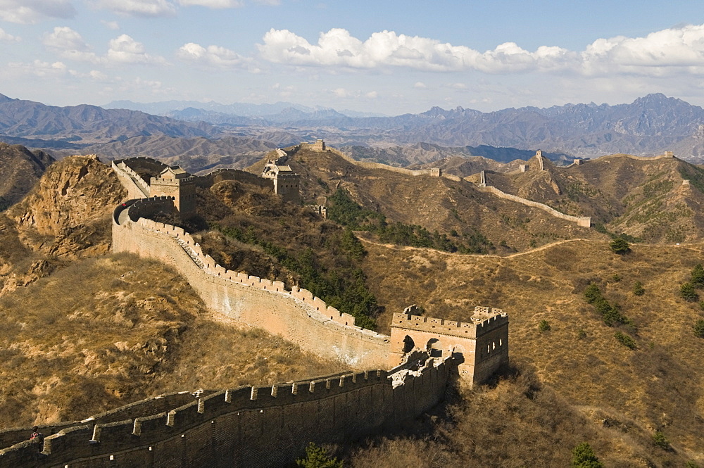
[[[534,170],[536,160],[529,164],[527,172],[490,171],[487,183],[647,242],[703,239],[702,170],[679,158],[612,155],[570,167],[546,161],[543,171]]]

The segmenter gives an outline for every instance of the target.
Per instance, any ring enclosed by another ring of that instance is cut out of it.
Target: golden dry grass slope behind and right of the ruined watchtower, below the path
[[[621,257],[605,242],[574,241],[513,258],[366,247],[365,271],[386,315],[412,303],[453,320],[467,320],[473,305],[503,308],[511,356],[534,365],[560,396],[633,419],[643,430],[660,429],[679,453],[704,457],[704,340],[692,331],[703,312],[677,295],[702,246],[636,244]],[[620,282],[610,281],[614,274]],[[634,336],[636,350],[618,343],[582,298],[591,281],[634,320],[636,329],[623,331]],[[636,281],[643,296],[631,293]],[[541,320],[552,330],[539,333]]]

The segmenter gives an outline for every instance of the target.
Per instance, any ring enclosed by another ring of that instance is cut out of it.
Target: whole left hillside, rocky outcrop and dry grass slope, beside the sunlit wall
[[[123,196],[108,166],[75,156],[0,216],[0,427],[340,370],[206,310],[163,265],[109,254]]]

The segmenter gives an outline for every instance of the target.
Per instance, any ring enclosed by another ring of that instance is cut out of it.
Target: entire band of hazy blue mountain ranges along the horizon
[[[213,167],[223,157],[230,158],[227,165],[246,167],[251,157],[270,148],[315,138],[344,148],[353,158],[391,165],[451,156],[508,162],[527,156],[521,151],[537,148],[563,162],[612,153],[654,156],[667,150],[692,162],[704,157],[704,110],[662,94],[617,106],[566,104],[491,113],[434,107],[394,117],[290,103],[118,101],[109,106],[131,109],[55,107],[0,95],[0,140],[53,150],[59,157],[76,152],[108,158],[145,154],[184,164],[189,158],[208,158],[203,167],[191,165],[190,170]],[[246,160],[239,158],[244,153],[249,155]]]

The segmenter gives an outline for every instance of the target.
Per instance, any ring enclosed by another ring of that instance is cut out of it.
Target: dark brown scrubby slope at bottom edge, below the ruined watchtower
[[[572,448],[584,441],[608,467],[682,464],[677,454],[655,448],[647,431],[607,427],[572,407],[527,365],[491,386],[461,391],[434,413],[348,449],[350,466],[568,467]]]

